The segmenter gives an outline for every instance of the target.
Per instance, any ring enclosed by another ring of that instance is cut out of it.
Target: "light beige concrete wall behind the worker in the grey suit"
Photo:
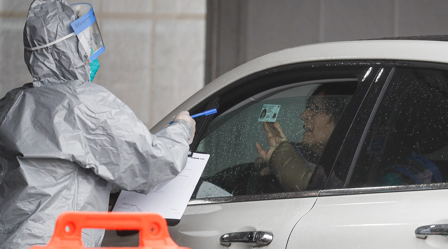
[[[106,51],[93,82],[150,128],[204,85],[205,0],[68,0],[93,5]],[[31,0],[0,0],[0,96],[32,77],[23,60]]]

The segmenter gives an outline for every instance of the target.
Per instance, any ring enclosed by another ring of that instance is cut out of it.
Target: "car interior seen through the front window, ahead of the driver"
[[[258,156],[254,144],[266,140],[266,137],[261,122],[258,122],[256,118],[255,120],[249,120],[248,117],[257,117],[264,103],[281,104],[278,121],[284,125],[285,134],[295,134],[295,136],[288,137],[289,141],[300,142],[303,133],[300,113],[305,108],[306,99],[309,98],[313,90],[323,83],[338,84],[359,81],[360,78],[358,77],[337,78],[273,87],[254,94],[221,113],[215,120],[211,121],[203,135],[202,142],[198,146],[197,151],[211,154],[211,159],[209,159],[192,198],[285,192],[286,190],[273,174],[261,177],[260,170],[254,165],[254,159]],[[282,114],[288,116],[289,119],[284,118]],[[244,121],[244,125],[238,123],[241,121]],[[292,127],[295,127],[295,129]],[[235,131],[235,129],[243,130],[244,134],[236,134],[239,131]],[[252,135],[252,137],[247,136],[248,133],[254,133],[254,130],[258,133]],[[214,133],[218,134],[218,137],[213,137]],[[226,133],[229,134],[229,137],[219,137]],[[233,135],[236,135],[238,139],[232,140]],[[207,144],[207,137],[212,137],[219,142],[205,145]],[[230,141],[228,143],[222,142],[226,139]],[[231,144],[231,146],[226,146],[227,144]],[[238,144],[241,147],[235,150],[234,147]],[[231,150],[237,152],[231,153],[229,152]],[[221,151],[224,151],[224,153],[221,153]],[[237,156],[240,157],[239,160],[235,160]],[[215,189],[213,189],[213,186],[215,186]],[[203,189],[206,189],[206,191]]]

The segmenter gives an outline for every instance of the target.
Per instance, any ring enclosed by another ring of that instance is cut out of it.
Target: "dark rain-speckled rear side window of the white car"
[[[448,72],[397,68],[348,187],[448,180]]]

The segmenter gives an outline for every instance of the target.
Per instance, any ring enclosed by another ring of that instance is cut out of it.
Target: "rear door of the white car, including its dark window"
[[[448,248],[448,67],[386,64],[287,248]]]

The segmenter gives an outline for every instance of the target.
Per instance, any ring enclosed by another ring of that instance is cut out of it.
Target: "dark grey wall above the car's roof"
[[[446,0],[208,0],[206,82],[288,47],[448,34]],[[209,36],[213,39],[210,39]]]

